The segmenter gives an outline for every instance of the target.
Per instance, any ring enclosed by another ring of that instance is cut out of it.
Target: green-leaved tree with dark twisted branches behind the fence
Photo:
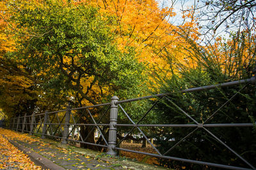
[[[116,47],[113,17],[92,6],[53,0],[13,10],[19,28],[15,55],[40,80],[45,92],[40,101],[54,97],[64,104],[72,96],[75,106],[83,106],[141,93],[143,64],[132,48]]]

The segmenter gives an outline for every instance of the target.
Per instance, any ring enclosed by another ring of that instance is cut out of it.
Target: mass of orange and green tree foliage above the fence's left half
[[[178,29],[168,22],[175,13],[153,0],[0,6],[0,107],[10,117],[35,106],[61,109],[70,98],[84,106],[146,95],[153,69],[170,66],[166,53],[181,56],[172,50],[182,43]]]

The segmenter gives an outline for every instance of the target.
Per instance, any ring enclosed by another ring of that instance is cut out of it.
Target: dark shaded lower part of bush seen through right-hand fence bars
[[[199,73],[200,74],[200,73]],[[191,77],[197,76],[195,71],[191,71]],[[188,83],[186,78],[180,78],[180,85]],[[173,80],[175,81],[175,80]],[[171,87],[171,83],[169,84]],[[202,85],[204,85],[202,83]],[[174,86],[175,87],[175,86]],[[241,87],[227,87],[223,89],[212,89],[203,92],[193,92],[188,94],[174,93],[168,96],[168,99],[161,100],[162,103],[157,104],[156,113],[158,119],[162,124],[195,124],[189,119],[179,108],[186,111],[198,123],[203,124],[214,111],[216,111],[228,98],[234,95]],[[165,89],[164,91],[166,91]],[[228,123],[250,123],[250,117],[255,117],[255,103],[256,97],[255,89],[248,87],[241,92],[243,96],[235,97],[231,103],[221,108],[214,117],[212,117],[207,124],[228,124]],[[250,96],[250,97],[249,97]],[[175,103],[177,106],[175,106]],[[160,123],[160,122],[159,122]],[[209,128],[208,128],[209,129]],[[184,138],[193,128],[166,128],[161,129],[161,135],[157,135],[156,144],[159,145],[161,153],[166,152],[172,148],[175,143]],[[256,136],[255,129],[252,127],[212,127],[209,129],[213,134],[218,136],[222,141],[228,144],[231,148],[236,148],[236,151],[243,154],[243,157],[253,162],[255,157],[256,143],[253,140]],[[175,139],[175,141],[168,140]],[[179,146],[170,152],[170,155],[182,157],[186,159],[203,160],[206,162],[216,163],[231,163],[232,165],[244,166],[243,162],[232,155],[227,148],[221,146],[210,134],[207,134],[204,129],[196,130],[189,138],[185,139]],[[231,159],[231,161],[230,161]],[[162,162],[168,166],[185,166],[184,162]],[[186,167],[196,168],[191,164]]]

